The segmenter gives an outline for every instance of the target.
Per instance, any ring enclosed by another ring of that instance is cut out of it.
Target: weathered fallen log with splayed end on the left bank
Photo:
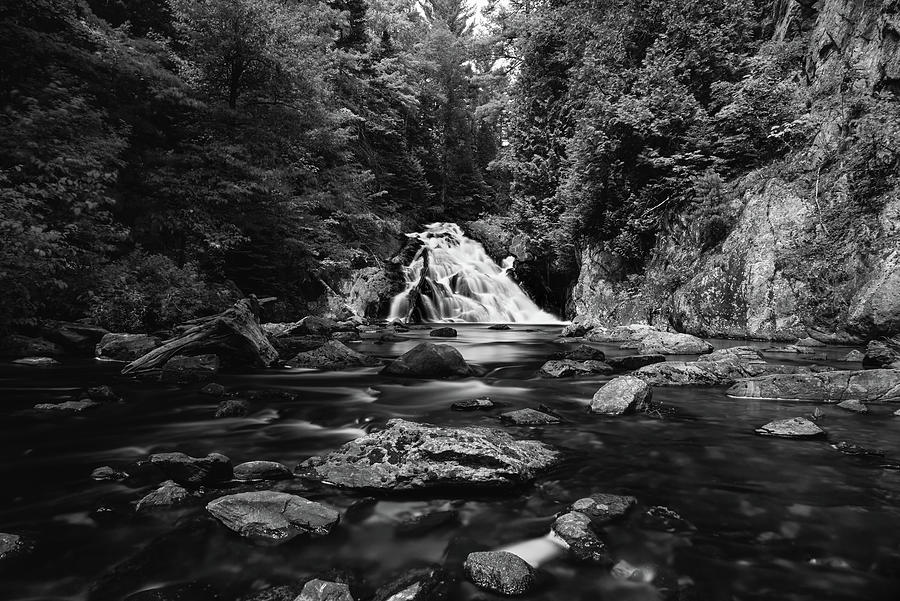
[[[256,297],[243,298],[218,315],[194,320],[179,336],[126,365],[122,373],[160,369],[176,355],[208,353],[230,366],[269,367],[278,360],[278,351],[260,327],[258,312]]]

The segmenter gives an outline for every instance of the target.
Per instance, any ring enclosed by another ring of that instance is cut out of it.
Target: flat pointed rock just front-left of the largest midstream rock
[[[219,497],[206,509],[241,536],[278,543],[298,534],[328,534],[340,519],[321,503],[271,490]]]

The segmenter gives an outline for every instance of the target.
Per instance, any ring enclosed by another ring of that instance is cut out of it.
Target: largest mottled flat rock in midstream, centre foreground
[[[558,453],[502,430],[445,428],[402,419],[297,467],[338,486],[390,491],[436,487],[504,488],[532,480]]]

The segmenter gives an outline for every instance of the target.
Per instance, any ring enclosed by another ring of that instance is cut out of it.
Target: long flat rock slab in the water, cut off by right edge
[[[751,399],[863,402],[900,402],[900,370],[867,369],[780,374],[741,380],[728,395]]]

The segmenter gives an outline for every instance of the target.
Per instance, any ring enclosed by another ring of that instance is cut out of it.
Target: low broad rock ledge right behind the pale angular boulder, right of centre
[[[813,368],[766,363],[750,346],[719,349],[696,361],[666,361],[634,372],[651,386],[728,386],[743,378],[779,374],[812,373]]]

